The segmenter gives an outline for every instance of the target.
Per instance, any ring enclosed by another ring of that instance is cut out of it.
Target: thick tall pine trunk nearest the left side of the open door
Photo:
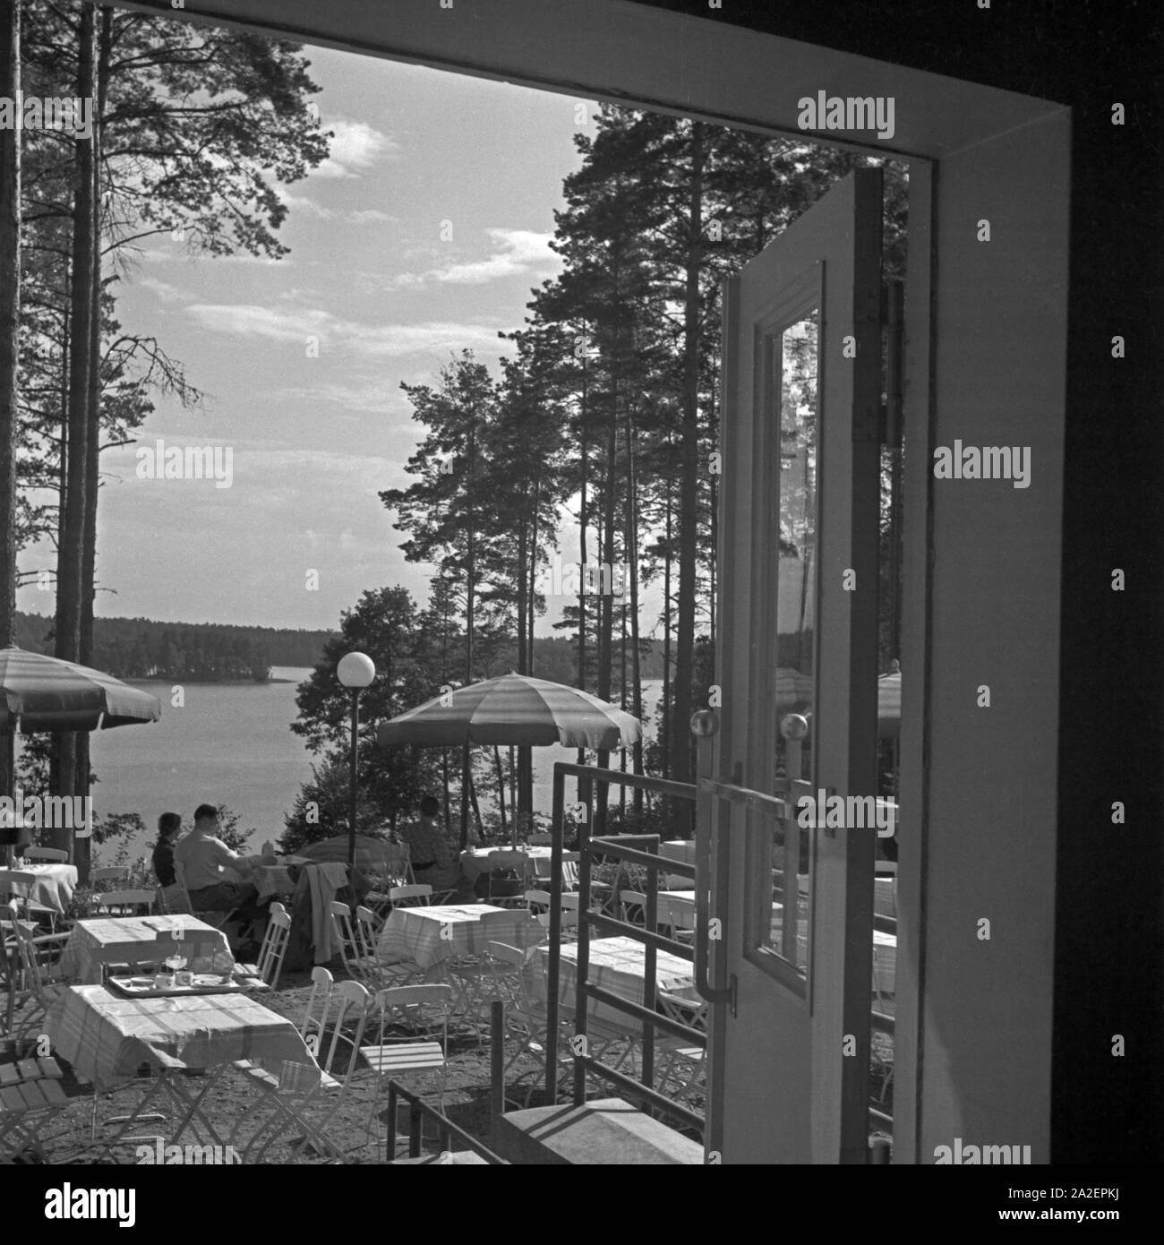
[[[695,596],[700,537],[700,263],[703,230],[703,123],[691,122],[687,259],[683,290],[683,439],[678,509],[678,610],[671,777],[691,781],[691,682],[695,674]],[[678,830],[691,834],[688,801],[676,802]]]

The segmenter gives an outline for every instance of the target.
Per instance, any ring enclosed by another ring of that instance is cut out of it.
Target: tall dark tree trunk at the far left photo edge
[[[0,0],[0,96],[20,98],[20,0]],[[0,649],[16,642],[16,443],[20,364],[20,131],[0,129]],[[0,794],[16,782],[0,737]]]

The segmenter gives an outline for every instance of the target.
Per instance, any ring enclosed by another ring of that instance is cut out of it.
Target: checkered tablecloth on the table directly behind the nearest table
[[[158,934],[182,931],[182,939]],[[192,972],[229,972],[234,956],[222,930],[197,916],[101,916],[77,921],[61,955],[61,976],[97,984],[103,964],[133,964],[181,955]]]

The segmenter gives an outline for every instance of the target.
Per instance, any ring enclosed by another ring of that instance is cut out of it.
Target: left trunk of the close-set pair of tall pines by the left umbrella
[[[96,100],[95,5],[81,7],[77,95]],[[57,550],[56,656],[76,661],[81,646],[81,561],[85,545],[85,494],[88,446],[90,367],[92,366],[93,310],[93,148],[96,128],[75,143],[75,192],[72,222],[71,344],[68,374],[68,463],[62,539]],[[77,736],[57,736],[56,794],[83,796],[77,789]],[[56,827],[54,847],[72,854],[72,834]]]

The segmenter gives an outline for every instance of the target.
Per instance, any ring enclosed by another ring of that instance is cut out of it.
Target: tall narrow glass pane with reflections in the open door
[[[805,783],[813,772],[815,686],[818,325],[817,311],[789,325],[773,359],[779,367],[781,427],[776,778]],[[796,794],[789,792],[791,801]],[[776,823],[768,946],[800,972],[808,964],[808,832],[797,825],[796,817]]]

